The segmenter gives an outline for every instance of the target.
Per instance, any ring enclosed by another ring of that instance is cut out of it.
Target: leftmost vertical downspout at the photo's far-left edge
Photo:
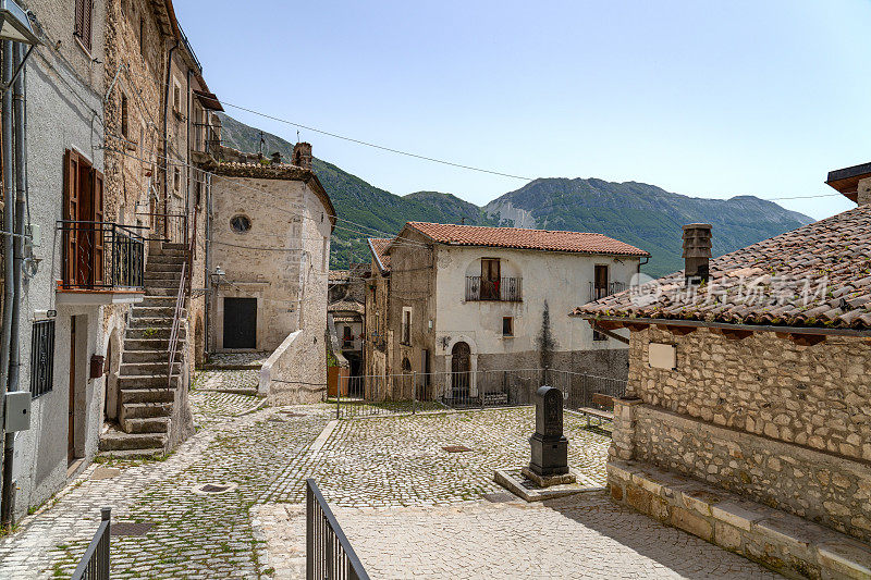
[[[12,42],[4,41],[3,47],[3,63],[2,63],[2,81],[8,83],[12,78]],[[13,261],[13,242],[12,242],[12,227],[13,227],[13,213],[12,213],[12,95],[9,91],[2,94],[2,108],[0,108],[0,116],[2,118],[3,131],[2,143],[0,147],[0,158],[3,165],[3,318],[0,323],[0,390],[5,391],[7,380],[9,379],[9,355],[10,345],[12,344],[12,305],[15,303],[15,288],[14,288],[14,267]],[[3,395],[3,408],[5,408],[5,394]],[[4,410],[1,410],[5,415]],[[0,434],[3,435],[5,441],[5,417],[0,421]],[[2,472],[5,473],[5,461],[0,457],[2,464]],[[11,467],[11,466],[10,466]],[[2,495],[7,494],[7,484],[3,482]]]

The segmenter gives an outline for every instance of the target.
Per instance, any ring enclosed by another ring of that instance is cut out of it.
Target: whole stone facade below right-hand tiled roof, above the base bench
[[[800,346],[774,333],[634,331],[611,456],[708,482],[871,540],[871,393],[863,340]],[[675,345],[676,368],[648,363]]]

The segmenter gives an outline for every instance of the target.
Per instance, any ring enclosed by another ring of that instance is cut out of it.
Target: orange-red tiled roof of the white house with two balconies
[[[608,237],[604,234],[426,222],[408,222],[406,226],[417,230],[432,238],[433,242],[450,246],[487,246],[579,254],[650,256],[642,249]]]

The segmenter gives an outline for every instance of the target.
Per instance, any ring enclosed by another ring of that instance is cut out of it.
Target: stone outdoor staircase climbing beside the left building
[[[172,429],[179,427],[172,421],[181,398],[184,320],[179,329],[172,381],[168,378],[169,343],[184,260],[183,244],[162,243],[148,252],[145,299],[133,305],[124,334],[118,378],[120,429],[111,429],[100,437],[101,455],[163,455],[172,443]],[[182,318],[186,316],[185,309]]]

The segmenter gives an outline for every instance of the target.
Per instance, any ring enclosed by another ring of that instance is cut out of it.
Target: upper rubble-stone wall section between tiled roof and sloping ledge
[[[648,365],[648,345],[676,345],[677,369]],[[871,460],[871,343],[830,337],[798,346],[774,333],[728,340],[708,329],[686,336],[631,333],[629,390],[680,415]]]

